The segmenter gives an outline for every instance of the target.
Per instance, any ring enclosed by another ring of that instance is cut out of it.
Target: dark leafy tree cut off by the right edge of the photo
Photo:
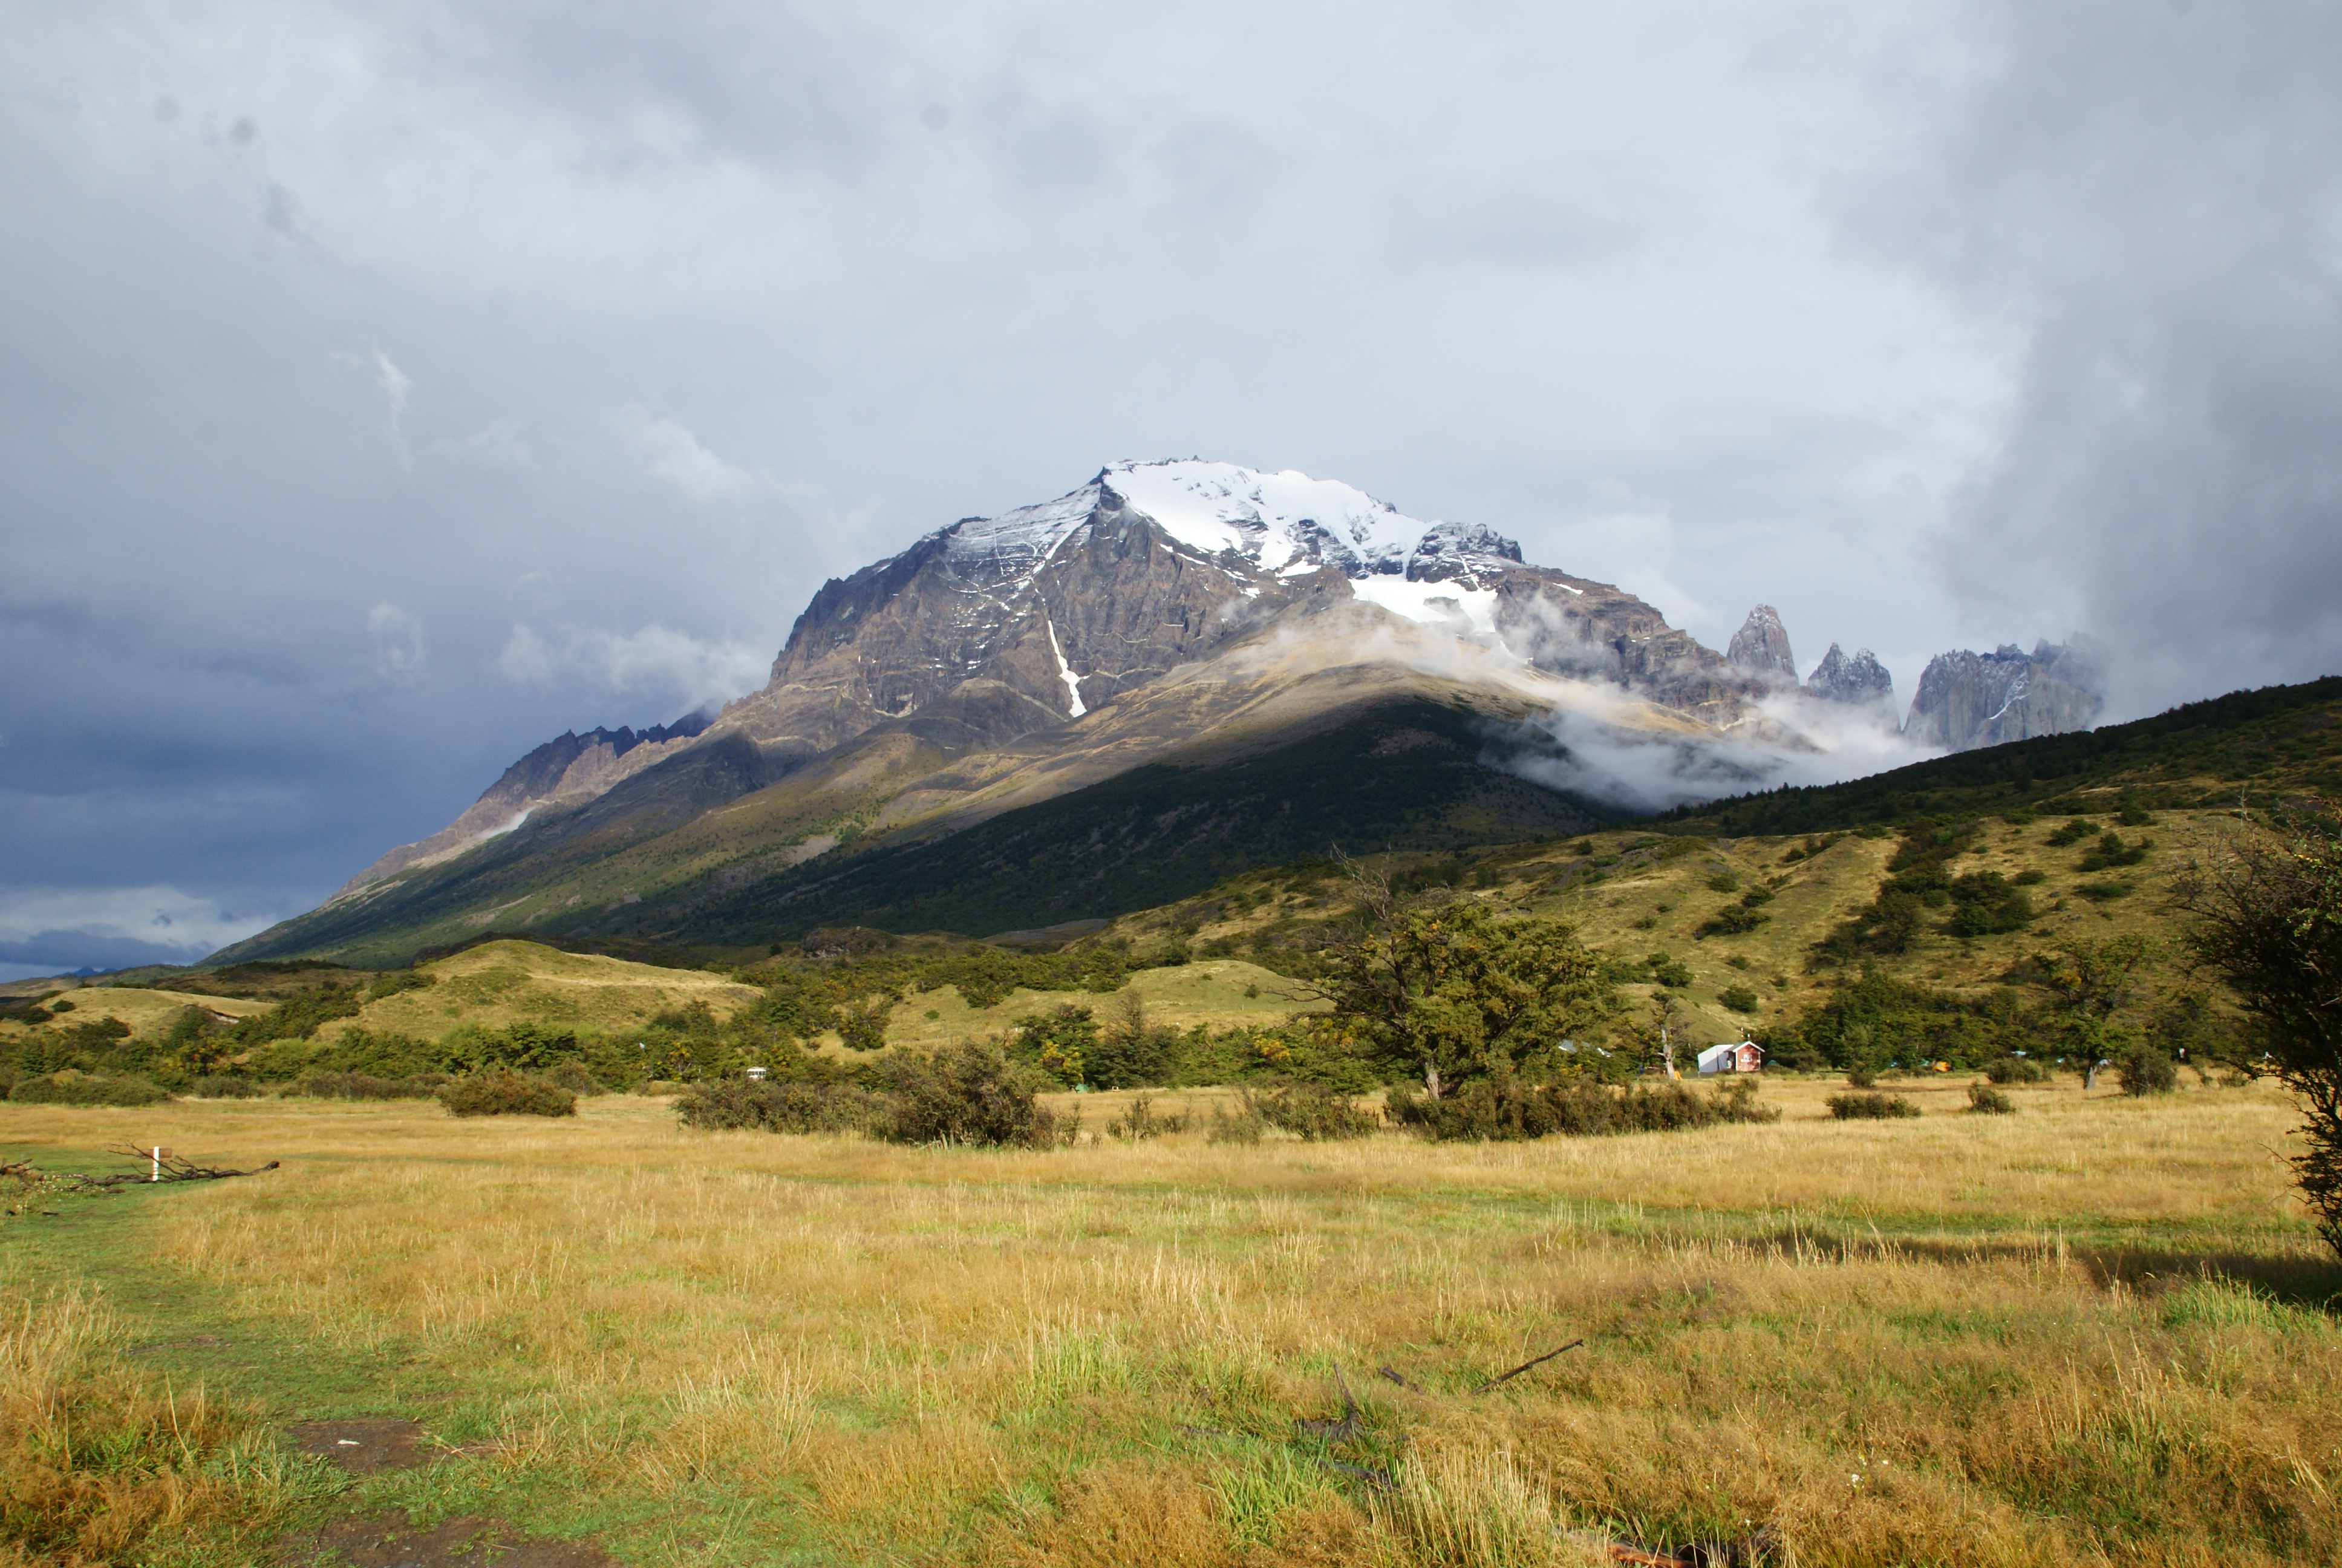
[[[2227,975],[2305,1113],[2293,1170],[2319,1235],[2342,1252],[2342,830],[2333,804],[2241,830],[2178,881],[2194,952]]]

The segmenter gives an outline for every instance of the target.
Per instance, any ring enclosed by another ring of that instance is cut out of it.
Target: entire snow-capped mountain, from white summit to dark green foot
[[[379,961],[487,926],[749,942],[881,909],[1000,930],[1110,914],[1138,886],[1176,898],[1232,855],[1567,832],[1614,811],[1511,771],[1539,715],[1815,750],[1801,715],[1827,691],[1796,684],[1778,612],[1752,628],[1717,654],[1485,525],[1410,518],[1335,480],[1110,464],[822,584],[759,691],[539,745],[445,830],[222,959]],[[1855,684],[1883,675],[1864,659]],[[1393,736],[1436,736],[1443,762],[1398,762],[1412,741]],[[1354,776],[1304,788],[1312,757]],[[1735,769],[1717,776],[1754,778]],[[1056,851],[1063,886],[977,855],[1042,853],[1047,834],[941,848],[1007,818],[1087,834]],[[988,895],[906,893],[918,877],[1021,902],[984,914]]]

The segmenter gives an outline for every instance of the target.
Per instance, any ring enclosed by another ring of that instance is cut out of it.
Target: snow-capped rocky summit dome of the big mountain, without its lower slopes
[[[782,759],[937,705],[953,736],[1007,741],[1321,600],[1365,600],[1700,717],[1728,717],[1745,694],[1635,595],[1525,565],[1487,527],[1422,523],[1302,473],[1162,462],[963,518],[824,584],[771,682],[719,724]]]

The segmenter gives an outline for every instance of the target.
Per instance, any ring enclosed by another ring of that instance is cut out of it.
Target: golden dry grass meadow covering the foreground
[[[1129,1146],[1094,1095],[1054,1153],[700,1134],[635,1097],[0,1106],[0,1153],[49,1167],[283,1160],[52,1202],[0,1256],[26,1322],[82,1303],[150,1390],[450,1448],[330,1502],[276,1474],[269,1509],[621,1561],[1560,1563],[1567,1528],[1756,1523],[1806,1566],[2342,1561],[2342,1270],[2274,1090],[1970,1116],[1927,1080],[1890,1085],[1918,1120],[1834,1123],[1834,1088],[1525,1146]],[[1337,1369],[1365,1409],[1328,1444],[1293,1423],[1340,1416]]]

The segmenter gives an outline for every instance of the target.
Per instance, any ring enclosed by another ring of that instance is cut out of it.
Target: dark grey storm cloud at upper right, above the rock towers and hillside
[[[1876,213],[2021,338],[1939,555],[2129,710],[2342,668],[2342,9],[2014,5]]]

